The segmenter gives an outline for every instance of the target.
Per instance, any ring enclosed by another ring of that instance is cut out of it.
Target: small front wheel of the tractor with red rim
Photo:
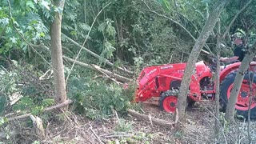
[[[159,98],[159,106],[161,110],[167,113],[175,113],[177,105],[177,93],[173,90],[163,92]]]

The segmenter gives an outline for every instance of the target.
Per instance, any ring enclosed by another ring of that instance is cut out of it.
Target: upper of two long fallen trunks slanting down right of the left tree
[[[86,50],[87,53],[91,54],[91,55],[94,56],[95,58],[102,59],[103,62],[106,62],[107,65],[109,65],[109,66],[114,66],[114,64],[113,64],[112,62],[110,62],[109,60],[107,60],[106,58],[102,58],[102,57],[99,56],[98,54],[95,54],[94,52],[92,52],[92,51],[86,49],[85,47],[83,47],[83,46],[81,46],[81,45],[79,45],[78,42],[74,42],[73,39],[69,38],[69,37],[66,36],[65,34],[62,34],[62,37],[63,37],[63,38],[66,38],[66,39],[69,40],[70,42],[74,43],[74,45],[79,46],[79,47],[82,47],[82,50]],[[122,70],[122,71],[124,71],[124,72],[126,72],[126,73],[128,73],[128,74],[133,74],[132,71],[123,69],[122,67],[118,67],[118,70]]]

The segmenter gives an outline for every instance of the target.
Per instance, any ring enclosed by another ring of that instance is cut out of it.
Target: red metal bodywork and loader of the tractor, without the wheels
[[[238,70],[241,62],[226,66],[220,73],[220,82],[227,74]],[[255,70],[256,64],[250,66]],[[162,92],[178,88],[182,82],[182,76],[186,63],[166,64],[162,66],[150,66],[142,70],[138,77],[138,89],[136,90],[136,102],[143,102],[152,97],[160,97]],[[215,86],[212,80],[213,73],[205,62],[196,63],[194,74],[191,76],[190,91],[188,97],[193,101],[200,101],[202,97],[214,99]]]

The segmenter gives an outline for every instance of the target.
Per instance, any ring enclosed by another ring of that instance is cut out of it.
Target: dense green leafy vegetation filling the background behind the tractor
[[[222,34],[247,2],[234,0],[226,5],[220,16]],[[125,117],[128,108],[139,110],[137,104],[130,102],[140,70],[145,66],[186,62],[214,3],[214,0],[66,0],[62,13],[62,50],[66,93],[74,100],[71,106],[74,113],[100,121],[110,118],[115,111]],[[230,34],[238,30],[250,38],[249,44],[254,42],[251,36],[255,34],[255,4],[250,2],[223,36],[226,48],[222,56],[233,54]],[[0,126],[8,125],[6,116],[11,113],[31,113],[44,121],[52,118],[52,114],[42,111],[55,104],[50,57],[54,12],[62,10],[50,0],[0,1]],[[216,28],[203,50],[216,54]],[[87,65],[73,68],[74,59]],[[201,53],[198,59],[208,61],[209,55]],[[124,90],[125,80],[112,77],[101,68],[133,81]]]

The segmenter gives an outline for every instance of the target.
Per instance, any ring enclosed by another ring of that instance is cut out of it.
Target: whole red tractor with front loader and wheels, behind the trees
[[[234,78],[240,65],[241,62],[232,63],[226,66],[220,73],[220,104],[223,110],[226,109]],[[152,97],[159,97],[160,108],[166,110],[166,112],[174,113],[185,68],[186,63],[146,67],[138,77],[138,89],[136,90],[135,101],[144,102]],[[250,117],[256,118],[256,73],[254,74],[254,72],[256,72],[256,64],[251,63],[250,69],[246,72],[242,82],[235,106],[237,114],[245,118],[248,115],[250,100],[249,75],[254,81],[252,84],[253,92],[251,93]],[[214,66],[207,65],[203,61],[196,63],[194,74],[192,74],[190,81],[190,90],[187,95],[189,104],[204,99],[214,100],[215,84],[213,74]]]

